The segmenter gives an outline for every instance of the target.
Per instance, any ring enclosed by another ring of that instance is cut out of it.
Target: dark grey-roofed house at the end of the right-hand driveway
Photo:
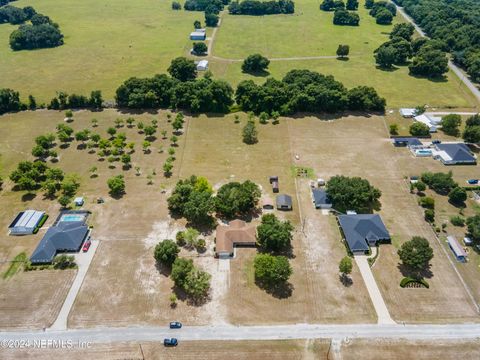
[[[338,222],[354,254],[366,253],[380,242],[390,242],[390,234],[378,214],[339,215]]]

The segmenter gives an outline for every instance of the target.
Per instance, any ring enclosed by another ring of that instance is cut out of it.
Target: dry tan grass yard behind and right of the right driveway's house
[[[392,317],[415,322],[476,319],[470,299],[403,180],[406,175],[427,170],[451,169],[463,174],[476,167],[445,168],[433,159],[414,158],[408,150],[394,148],[381,117],[348,117],[333,122],[297,119],[291,121],[290,129],[300,162],[317,169],[321,177],[361,176],[382,191],[380,214],[394,241],[393,245],[380,246],[374,275]],[[426,237],[434,249],[429,290],[401,289],[398,285],[402,274],[396,246],[413,235]]]

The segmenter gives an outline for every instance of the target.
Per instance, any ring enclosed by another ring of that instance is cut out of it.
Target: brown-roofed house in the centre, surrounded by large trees
[[[243,220],[232,220],[225,225],[218,225],[215,236],[215,255],[221,258],[233,256],[236,246],[255,246],[257,230],[255,226]]]

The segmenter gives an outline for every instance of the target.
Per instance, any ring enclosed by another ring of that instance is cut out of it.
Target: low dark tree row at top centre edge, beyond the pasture
[[[293,14],[295,3],[292,0],[237,0],[228,6],[228,12],[231,15]]]

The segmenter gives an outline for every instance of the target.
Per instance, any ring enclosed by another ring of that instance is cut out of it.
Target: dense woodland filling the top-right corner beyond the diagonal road
[[[457,64],[480,81],[480,1],[395,0],[433,39],[442,41]]]

